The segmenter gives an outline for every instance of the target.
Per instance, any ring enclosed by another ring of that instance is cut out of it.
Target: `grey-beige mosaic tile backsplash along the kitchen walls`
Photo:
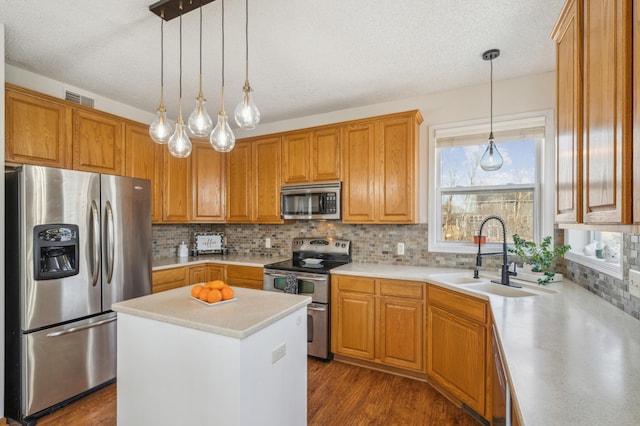
[[[473,269],[475,265],[474,255],[427,251],[426,224],[346,225],[337,221],[298,221],[284,225],[153,225],[152,229],[154,259],[176,256],[178,244],[184,241],[190,245],[196,232],[222,232],[230,254],[288,257],[295,237],[332,236],[351,240],[354,262],[461,269]],[[562,230],[556,230],[554,236],[556,244],[564,243]],[[271,248],[265,248],[265,238],[271,238]],[[404,256],[395,254],[400,242],[405,243]],[[640,270],[639,256],[640,236],[624,234],[623,280],[567,260],[557,264],[556,271],[640,319],[640,299],[629,295],[627,281],[630,268]],[[499,256],[483,259],[485,270],[497,270],[500,264]]]

